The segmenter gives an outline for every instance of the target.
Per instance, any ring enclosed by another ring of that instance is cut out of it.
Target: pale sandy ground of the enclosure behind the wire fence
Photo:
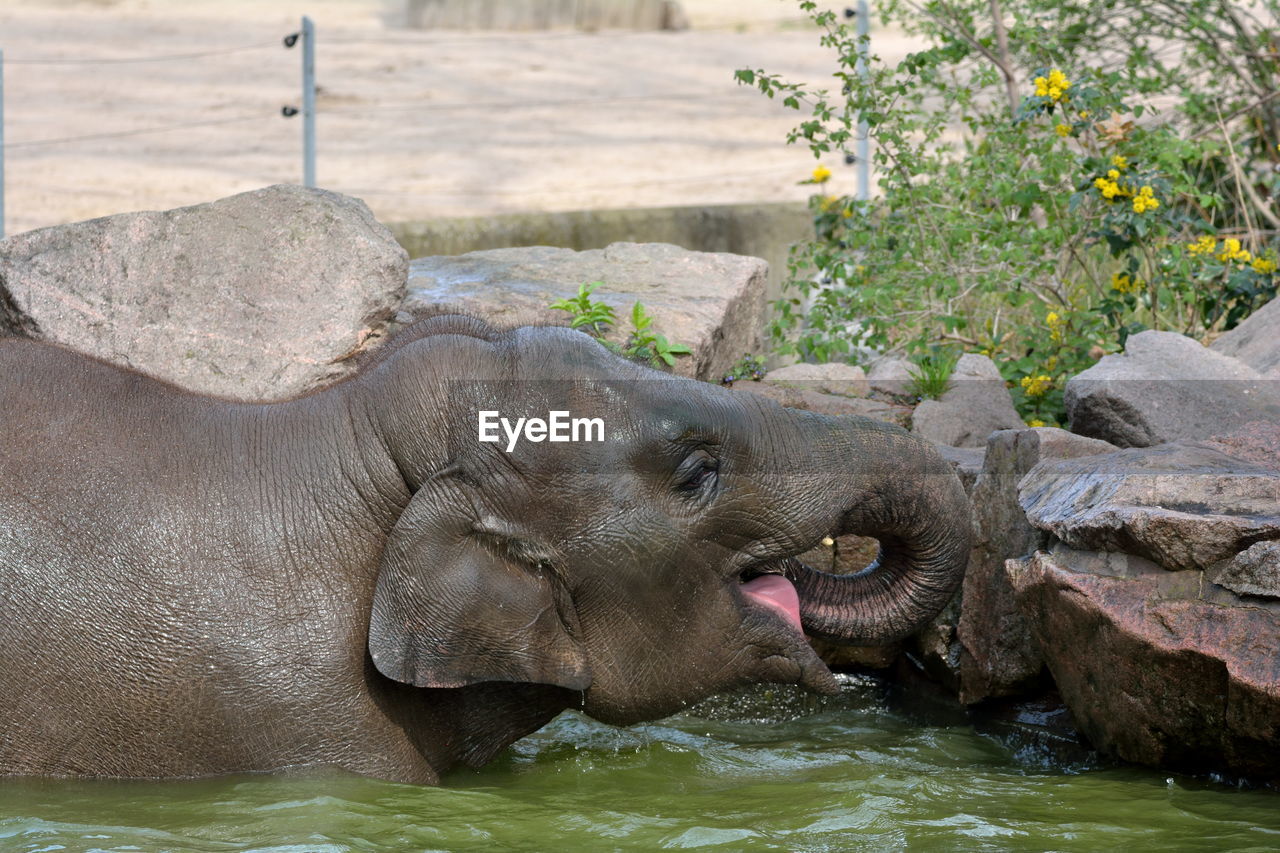
[[[6,233],[301,182],[301,118],[280,115],[301,51],[280,38],[303,13],[319,184],[384,222],[805,199],[797,114],[732,73],[822,82],[833,58],[791,0],[684,8],[675,33],[477,33],[397,28],[389,0],[0,0]]]

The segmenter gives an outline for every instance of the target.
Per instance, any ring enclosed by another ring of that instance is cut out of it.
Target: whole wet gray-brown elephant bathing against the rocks
[[[607,441],[506,453],[480,409],[603,415]],[[742,581],[786,573],[809,633],[882,642],[968,551],[959,483],[899,429],[470,318],[264,405],[0,341],[0,774],[435,783],[568,707],[832,689]],[[861,576],[790,560],[851,532],[883,546]]]

